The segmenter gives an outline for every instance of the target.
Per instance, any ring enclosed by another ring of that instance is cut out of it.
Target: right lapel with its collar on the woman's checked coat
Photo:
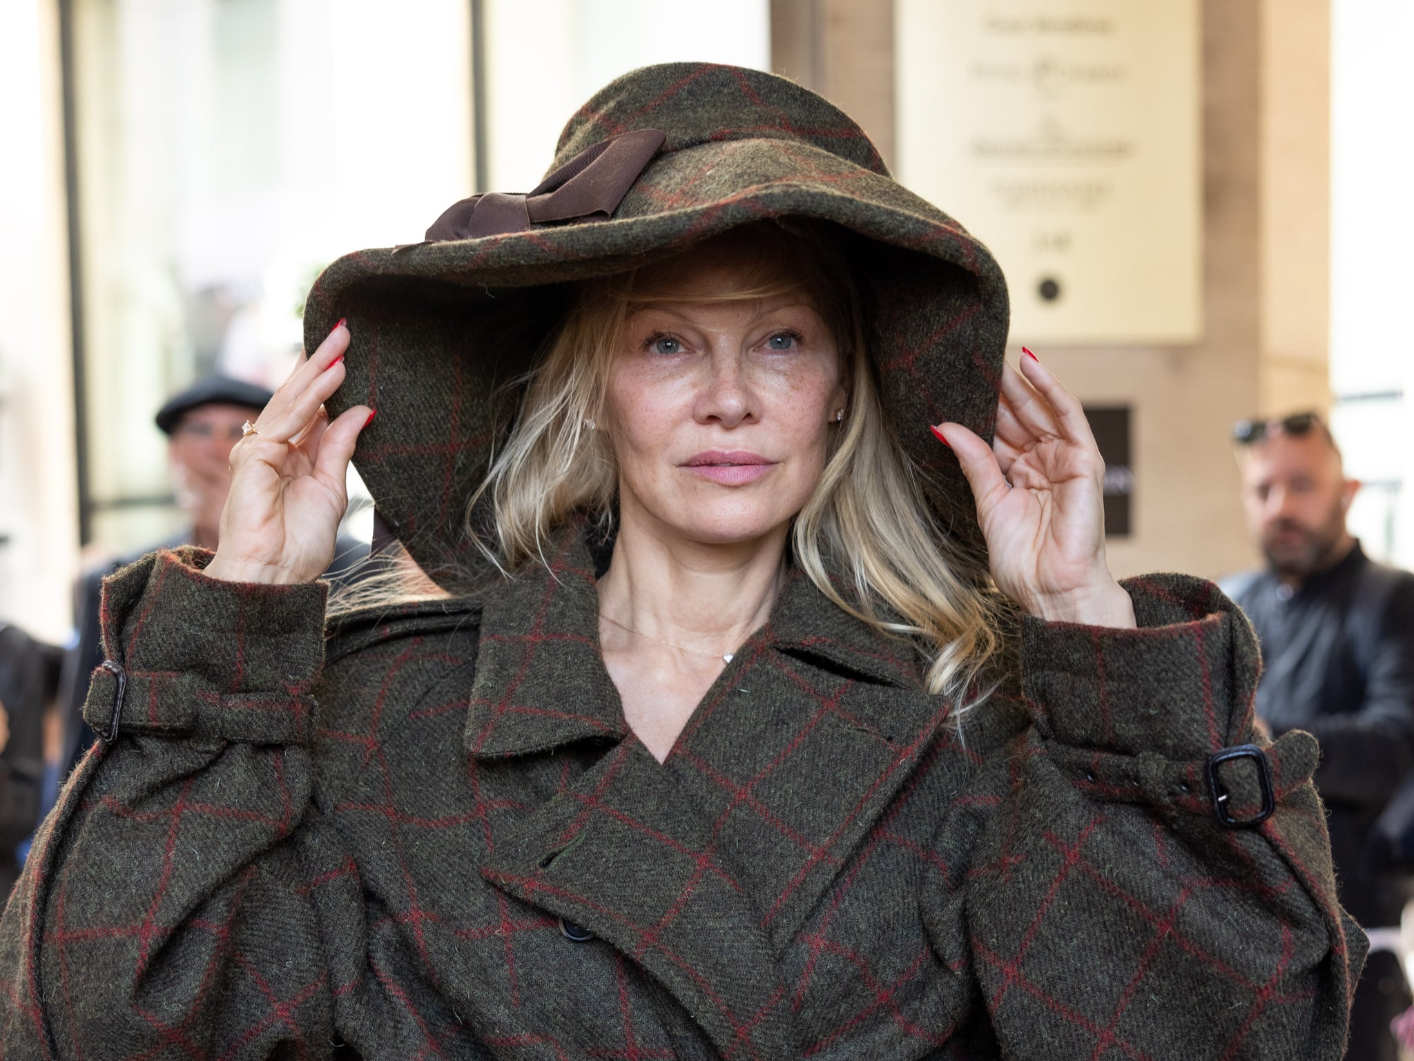
[[[949,716],[906,645],[793,576],[665,764],[713,822],[773,952],[795,938]]]

